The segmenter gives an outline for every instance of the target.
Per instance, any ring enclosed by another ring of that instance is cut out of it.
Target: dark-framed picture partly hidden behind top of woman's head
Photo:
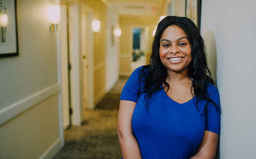
[[[186,0],[185,15],[190,18],[200,30],[201,0]]]

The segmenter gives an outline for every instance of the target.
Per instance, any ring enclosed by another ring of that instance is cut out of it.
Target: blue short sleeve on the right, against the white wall
[[[215,86],[211,86],[211,99],[220,106],[220,95],[218,89]],[[209,89],[208,89],[209,90]],[[205,130],[215,132],[220,134],[220,107],[215,107],[215,105],[209,102],[205,109]]]

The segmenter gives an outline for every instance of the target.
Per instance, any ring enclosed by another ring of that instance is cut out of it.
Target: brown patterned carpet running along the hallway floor
[[[64,131],[65,145],[54,159],[121,159],[117,137],[119,98],[127,77],[120,77],[115,86],[96,105],[84,110],[84,122]]]

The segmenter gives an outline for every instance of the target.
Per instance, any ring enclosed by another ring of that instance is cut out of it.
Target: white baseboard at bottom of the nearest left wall
[[[39,159],[52,159],[61,149],[61,138],[58,138],[54,143],[41,155]]]

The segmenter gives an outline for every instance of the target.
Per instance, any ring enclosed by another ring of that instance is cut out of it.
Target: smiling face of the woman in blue
[[[168,72],[187,73],[192,61],[186,33],[176,25],[169,26],[160,38],[159,55]]]

